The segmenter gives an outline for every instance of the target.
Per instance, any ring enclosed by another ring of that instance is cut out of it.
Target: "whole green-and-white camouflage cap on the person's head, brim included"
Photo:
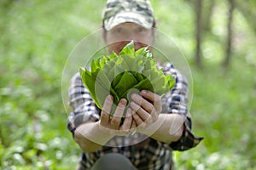
[[[133,22],[148,29],[154,23],[153,8],[148,0],[108,0],[102,17],[108,31],[124,22]]]

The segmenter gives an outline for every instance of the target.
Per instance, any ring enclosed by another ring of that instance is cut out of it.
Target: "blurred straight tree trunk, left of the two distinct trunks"
[[[202,34],[202,0],[195,0],[195,39],[196,39],[196,52],[195,64],[201,66],[201,34]]]

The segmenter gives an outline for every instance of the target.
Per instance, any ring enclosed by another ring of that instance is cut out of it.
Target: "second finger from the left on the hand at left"
[[[124,111],[125,111],[126,103],[127,103],[126,99],[120,99],[119,105],[117,106],[117,108],[114,111],[113,117],[112,117],[111,122],[110,122],[110,126],[114,130],[119,129],[121,118],[122,118],[122,116],[124,114]]]

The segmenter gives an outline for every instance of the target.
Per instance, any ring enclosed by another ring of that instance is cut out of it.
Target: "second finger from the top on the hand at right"
[[[141,105],[145,111],[151,114],[151,112],[154,112],[154,105],[152,105],[150,102],[148,102],[147,99],[143,99],[143,97],[139,94],[131,94],[131,99],[137,105]]]

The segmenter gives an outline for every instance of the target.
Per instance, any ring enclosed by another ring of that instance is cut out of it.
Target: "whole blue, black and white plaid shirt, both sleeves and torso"
[[[189,150],[200,143],[203,138],[196,137],[191,132],[191,119],[187,109],[188,83],[185,77],[170,63],[163,66],[163,71],[165,74],[171,74],[176,77],[176,84],[170,93],[161,98],[162,112],[170,114],[176,113],[186,117],[186,121],[184,122],[185,128],[181,139],[171,144],[165,144],[155,139],[148,138],[145,139],[142,144],[120,147],[102,146],[100,150],[82,154],[80,169],[90,169],[101,156],[107,153],[120,153],[126,156],[137,169],[172,169],[172,150]],[[68,116],[67,127],[71,132],[83,122],[99,121],[101,111],[96,107],[93,99],[91,99],[89,91],[84,88],[79,73],[74,75],[71,80],[69,96],[69,105],[72,106],[73,111]],[[111,139],[110,142],[114,143],[117,140],[116,138]],[[121,139],[125,142],[124,138]]]

